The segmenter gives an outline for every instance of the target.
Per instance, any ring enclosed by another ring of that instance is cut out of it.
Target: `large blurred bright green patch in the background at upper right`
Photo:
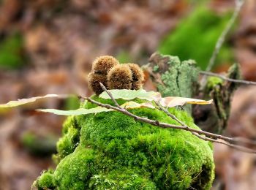
[[[197,7],[174,31],[162,39],[159,52],[176,55],[181,60],[195,59],[201,69],[206,69],[217,39],[229,19],[229,13],[220,16],[205,6]],[[233,53],[225,43],[220,50],[217,63],[230,61],[233,61]]]

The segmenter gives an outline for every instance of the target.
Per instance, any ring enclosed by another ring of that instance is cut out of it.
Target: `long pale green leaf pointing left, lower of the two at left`
[[[113,110],[105,107],[94,107],[91,109],[79,108],[78,110],[39,109],[37,111],[45,113],[54,113],[56,115],[86,115],[90,113],[110,112]]]

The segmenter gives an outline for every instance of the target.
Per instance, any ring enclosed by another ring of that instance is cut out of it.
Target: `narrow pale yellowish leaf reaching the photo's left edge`
[[[15,101],[10,101],[7,104],[0,104],[0,108],[17,107],[17,106],[20,106],[20,105],[23,105],[23,104],[36,102],[37,99],[45,99],[45,98],[50,98],[50,97],[66,98],[68,96],[70,96],[70,95],[66,95],[66,94],[64,94],[64,95],[47,94],[45,96],[37,96],[37,97],[29,98],[29,99],[18,99],[18,100],[15,100]]]

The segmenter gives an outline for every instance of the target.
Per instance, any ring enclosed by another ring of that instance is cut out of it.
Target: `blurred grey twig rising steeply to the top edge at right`
[[[214,47],[214,52],[211,55],[210,61],[208,62],[208,66],[206,67],[206,72],[211,71],[212,67],[214,66],[214,63],[216,61],[216,58],[219,54],[219,50],[223,45],[223,42],[225,42],[225,39],[227,37],[228,32],[231,30],[233,24],[235,23],[236,18],[239,15],[239,12],[241,11],[241,7],[244,4],[244,0],[236,0],[236,8],[233,12],[232,17],[227,23],[227,26],[225,27],[224,31],[222,31],[222,34],[219,36],[219,39],[217,40],[217,43]],[[206,86],[206,77],[203,77],[201,80],[201,86],[204,88]]]

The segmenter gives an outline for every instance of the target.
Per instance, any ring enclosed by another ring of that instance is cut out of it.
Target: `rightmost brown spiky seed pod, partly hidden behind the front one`
[[[127,64],[132,71],[132,90],[138,90],[143,86],[144,74],[138,64]]]

